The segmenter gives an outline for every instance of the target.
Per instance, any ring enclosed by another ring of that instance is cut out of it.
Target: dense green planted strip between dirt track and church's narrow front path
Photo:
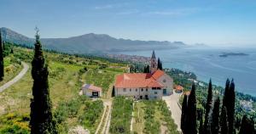
[[[110,133],[130,134],[132,99],[115,97],[110,122]]]

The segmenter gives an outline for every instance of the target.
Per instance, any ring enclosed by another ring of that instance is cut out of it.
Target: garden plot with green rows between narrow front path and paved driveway
[[[163,100],[143,100],[134,106],[134,133],[169,133],[176,134],[177,125]]]

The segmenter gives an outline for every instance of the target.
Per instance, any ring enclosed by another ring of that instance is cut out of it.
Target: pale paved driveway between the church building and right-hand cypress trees
[[[180,129],[180,120],[181,120],[181,109],[178,106],[178,99],[180,97],[180,93],[173,93],[171,96],[164,96],[163,99],[166,101],[169,110],[172,112],[172,119],[175,124],[177,124],[177,131],[181,131]]]

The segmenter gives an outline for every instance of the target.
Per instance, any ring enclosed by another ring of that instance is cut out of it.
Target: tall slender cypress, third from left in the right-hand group
[[[211,108],[212,108],[212,80],[210,79],[209,86],[208,86],[205,122],[203,127],[204,133],[211,133],[210,116],[209,116]]]

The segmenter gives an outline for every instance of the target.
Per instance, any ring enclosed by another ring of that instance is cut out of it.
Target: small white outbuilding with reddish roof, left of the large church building
[[[84,84],[82,86],[82,92],[84,95],[90,98],[99,98],[102,96],[102,88],[91,84]]]

